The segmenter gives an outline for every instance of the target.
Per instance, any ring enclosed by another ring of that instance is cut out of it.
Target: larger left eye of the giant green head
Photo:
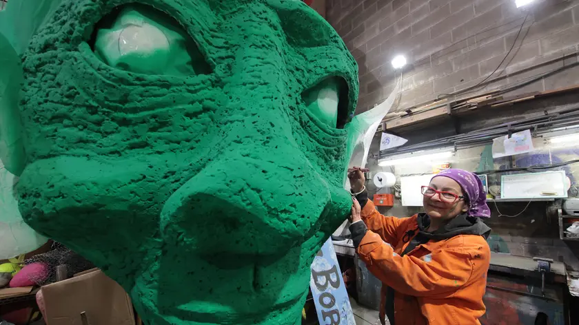
[[[117,7],[94,29],[94,54],[107,65],[141,74],[208,74],[195,41],[171,17],[149,6]]]

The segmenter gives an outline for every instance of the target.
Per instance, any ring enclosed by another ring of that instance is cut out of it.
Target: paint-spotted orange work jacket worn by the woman
[[[478,318],[485,314],[482,296],[491,258],[484,236],[489,235],[490,228],[476,218],[463,216],[462,221],[457,219],[456,222],[464,225],[468,220],[473,224],[463,233],[480,233],[460,234],[459,231],[451,233],[447,239],[435,235],[434,239],[427,238],[423,244],[400,256],[419,232],[418,223],[425,215],[385,217],[376,211],[371,200],[367,200],[361,216],[369,230],[363,235],[357,252],[369,271],[383,283],[382,319],[386,286],[389,286],[395,291],[396,325],[480,324]],[[358,225],[363,227],[361,222]]]

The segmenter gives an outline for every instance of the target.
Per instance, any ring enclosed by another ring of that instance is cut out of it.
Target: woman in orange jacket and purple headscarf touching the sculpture
[[[360,260],[383,283],[380,321],[390,324],[480,324],[491,252],[490,210],[480,179],[448,169],[422,188],[425,213],[385,217],[365,191],[359,168],[348,173],[352,240]]]

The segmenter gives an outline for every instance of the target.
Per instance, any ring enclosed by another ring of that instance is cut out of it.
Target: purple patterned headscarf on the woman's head
[[[469,199],[469,211],[467,214],[471,217],[490,218],[491,209],[487,205],[487,193],[482,187],[480,178],[470,171],[463,169],[446,169],[440,171],[434,177],[447,177],[458,182],[458,185],[463,189]],[[434,178],[433,177],[433,178]]]

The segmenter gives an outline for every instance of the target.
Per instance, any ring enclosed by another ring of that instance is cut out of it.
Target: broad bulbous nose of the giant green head
[[[165,240],[201,254],[272,255],[321,227],[318,220],[332,201],[329,187],[298,151],[269,147],[272,158],[264,160],[237,150],[207,165],[165,202]]]

